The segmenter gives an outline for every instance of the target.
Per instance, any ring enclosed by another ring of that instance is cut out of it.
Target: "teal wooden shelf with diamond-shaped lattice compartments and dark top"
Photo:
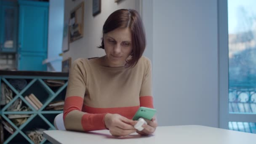
[[[10,80],[25,79],[27,85],[19,90],[11,83]],[[64,80],[64,85],[59,87],[50,87],[44,80]],[[0,98],[2,97],[1,86],[5,84],[9,90],[13,93],[13,99],[5,105],[0,106],[0,115],[2,120],[9,123],[14,128],[14,133],[11,134],[4,130],[5,140],[4,144],[14,143],[30,143],[33,141],[27,136],[27,131],[33,131],[35,128],[43,128],[46,130],[55,130],[53,120],[56,115],[62,113],[62,110],[50,111],[45,110],[49,103],[52,101],[64,100],[67,89],[68,77],[43,77],[43,76],[17,76],[17,75],[2,75],[0,76]],[[43,104],[43,106],[36,110],[26,99],[25,96],[33,93],[37,99]],[[8,109],[12,104],[21,99],[22,105],[27,107],[27,111],[10,111]],[[8,115],[30,115],[27,120],[21,125],[15,125],[12,119],[8,118]],[[49,143],[46,139],[41,141],[40,144]]]

